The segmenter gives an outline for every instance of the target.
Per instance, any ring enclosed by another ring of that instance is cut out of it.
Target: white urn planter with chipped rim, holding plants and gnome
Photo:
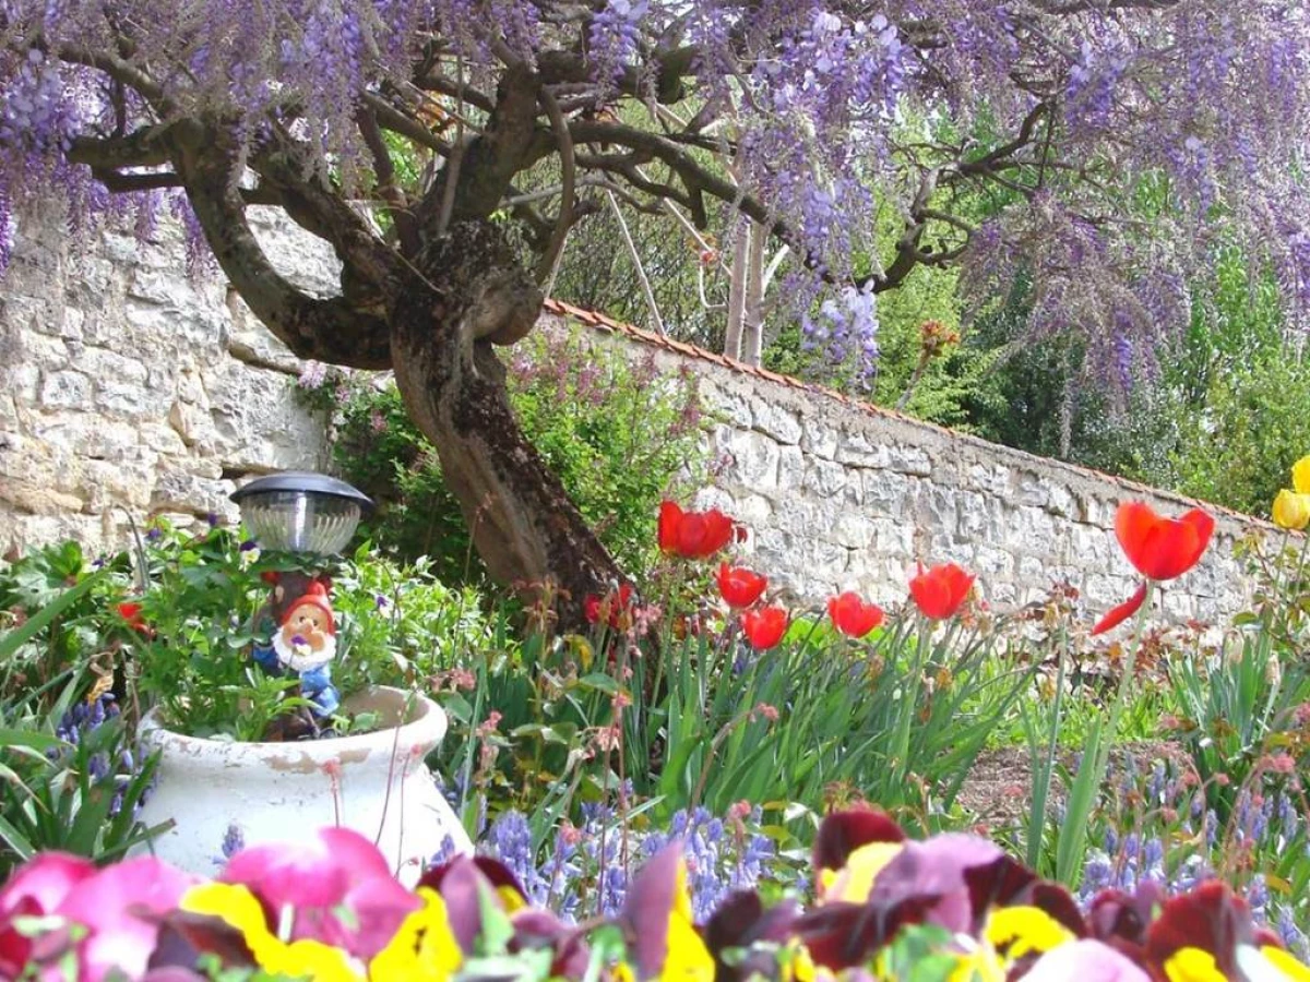
[[[358,736],[284,744],[203,740],[165,729],[147,714],[145,749],[160,750],[159,786],[141,809],[151,827],[173,820],[140,851],[214,876],[236,829],[246,846],[303,838],[341,825],[381,850],[407,886],[445,837],[472,845],[423,758],[445,733],[445,714],[422,695],[372,689],[346,700],[379,714],[381,728]]]

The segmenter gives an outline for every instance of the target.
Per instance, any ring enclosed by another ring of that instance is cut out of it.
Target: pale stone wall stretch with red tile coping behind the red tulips
[[[1120,501],[1179,515],[1195,501],[1034,457],[732,363],[567,304],[548,304],[610,335],[692,360],[717,418],[720,469],[700,507],[752,529],[751,563],[802,598],[857,589],[880,602],[907,596],[914,564],[954,560],[979,576],[997,608],[1027,604],[1052,584],[1076,587],[1089,611],[1127,600],[1140,583],[1114,534]],[[1201,564],[1165,589],[1169,619],[1224,623],[1248,600],[1234,541],[1263,522],[1208,507],[1218,525]]]

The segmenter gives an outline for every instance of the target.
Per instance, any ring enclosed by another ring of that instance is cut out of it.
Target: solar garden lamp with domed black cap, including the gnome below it
[[[341,553],[373,511],[373,503],[345,481],[310,471],[284,471],[252,481],[232,500],[261,549],[301,555]],[[274,676],[295,674],[300,694],[313,706],[308,728],[341,704],[331,683],[337,656],[337,618],[331,580],[322,572],[270,572],[269,601],[255,614],[254,660]]]

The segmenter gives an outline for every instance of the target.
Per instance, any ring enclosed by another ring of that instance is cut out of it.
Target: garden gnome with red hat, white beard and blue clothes
[[[276,630],[269,646],[255,646],[254,659],[266,672],[300,677],[300,694],[314,704],[316,716],[330,716],[341,706],[331,683],[331,660],[337,656],[337,619],[328,588],[309,580],[304,592],[286,600],[284,584],[274,588]]]

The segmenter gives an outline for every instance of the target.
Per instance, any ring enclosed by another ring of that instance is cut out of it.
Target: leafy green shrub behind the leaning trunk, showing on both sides
[[[652,355],[631,363],[574,329],[520,342],[507,384],[528,439],[620,566],[639,575],[656,555],[660,498],[705,470],[690,372],[662,373]],[[368,534],[406,559],[430,556],[444,583],[481,583],[485,570],[436,450],[396,386],[329,376],[309,386],[309,399],[334,406],[337,466],[379,503]]]

